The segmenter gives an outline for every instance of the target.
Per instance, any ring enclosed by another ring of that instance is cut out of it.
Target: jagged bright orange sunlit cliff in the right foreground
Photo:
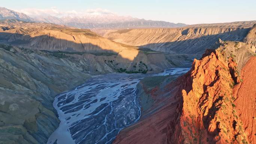
[[[221,49],[194,60],[175,120],[168,124],[169,144],[249,142],[232,96],[234,84],[240,82],[236,67]]]

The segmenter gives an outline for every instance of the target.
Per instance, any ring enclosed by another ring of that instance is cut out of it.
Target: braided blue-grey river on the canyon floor
[[[170,68],[163,73],[186,73]],[[106,74],[91,78],[76,89],[55,97],[60,125],[47,144],[111,144],[121,129],[140,119],[138,82],[152,74]]]

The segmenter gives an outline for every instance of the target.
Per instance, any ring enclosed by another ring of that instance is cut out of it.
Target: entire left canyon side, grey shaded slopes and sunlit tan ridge
[[[54,97],[95,75],[174,67],[163,52],[90,30],[18,20],[4,20],[0,27],[1,143],[47,143],[60,123]]]

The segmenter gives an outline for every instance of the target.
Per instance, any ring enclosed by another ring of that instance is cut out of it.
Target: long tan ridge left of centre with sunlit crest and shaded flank
[[[150,49],[124,45],[113,42],[86,29],[74,29],[61,25],[30,23],[19,21],[4,21],[0,23],[4,29],[0,32],[1,42],[15,45],[19,48],[92,53],[86,55],[91,61],[97,61],[97,71],[114,72],[159,72],[167,67],[181,65],[179,61],[168,60],[162,52],[154,52]],[[84,57],[83,55],[82,57]]]

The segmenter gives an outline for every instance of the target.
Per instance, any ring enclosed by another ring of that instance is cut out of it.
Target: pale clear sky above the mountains
[[[28,15],[115,13],[150,20],[205,24],[256,20],[256,0],[0,0]]]

